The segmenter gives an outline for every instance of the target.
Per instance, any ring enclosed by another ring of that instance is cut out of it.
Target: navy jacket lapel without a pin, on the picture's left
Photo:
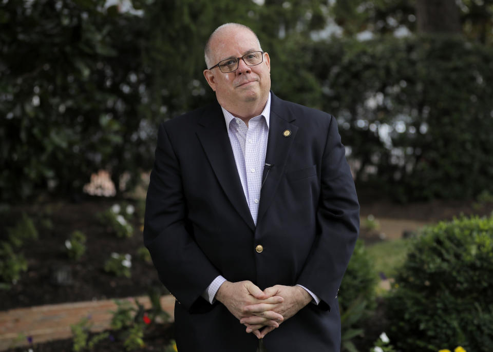
[[[224,115],[219,104],[204,113],[199,125],[197,136],[219,184],[236,211],[248,226],[255,231],[255,224],[241,186],[233,149],[227,135]]]

